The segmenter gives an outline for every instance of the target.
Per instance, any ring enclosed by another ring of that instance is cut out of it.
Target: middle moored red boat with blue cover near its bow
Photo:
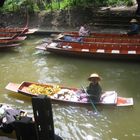
[[[79,42],[79,43],[104,43],[104,44],[126,44],[140,45],[140,38],[114,38],[114,37],[73,37],[70,35],[59,34],[55,42]]]

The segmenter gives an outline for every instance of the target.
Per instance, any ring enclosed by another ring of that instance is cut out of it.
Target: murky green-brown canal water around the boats
[[[0,52],[0,102],[28,111],[31,98],[5,89],[9,82],[57,83],[69,87],[87,86],[88,76],[97,72],[104,91],[133,97],[133,107],[53,104],[55,133],[64,140],[140,139],[140,64],[137,62],[81,59],[36,50],[44,36],[29,36],[19,48]]]

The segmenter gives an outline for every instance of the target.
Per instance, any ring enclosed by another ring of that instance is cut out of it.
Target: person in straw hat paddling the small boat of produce
[[[87,93],[89,94],[89,98],[91,98],[94,102],[99,102],[102,94],[102,88],[99,84],[101,77],[97,73],[93,73],[88,78],[90,81],[89,86],[87,87]]]

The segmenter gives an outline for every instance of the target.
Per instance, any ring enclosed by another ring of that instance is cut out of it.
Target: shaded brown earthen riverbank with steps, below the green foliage
[[[137,6],[73,8],[55,12],[8,13],[1,14],[1,25],[5,27],[39,28],[41,30],[78,30],[84,23],[90,24],[91,30],[119,29],[127,30],[129,21],[135,17]],[[9,22],[10,21],[10,22]]]

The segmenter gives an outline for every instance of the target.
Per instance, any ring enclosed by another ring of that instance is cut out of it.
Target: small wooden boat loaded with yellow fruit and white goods
[[[5,88],[31,97],[44,94],[50,97],[53,102],[90,104],[87,94],[81,89],[59,86],[57,84],[41,84],[23,81],[21,84],[8,83]],[[101,101],[95,104],[132,106],[133,98],[118,97],[115,91],[107,91],[102,94]]]

